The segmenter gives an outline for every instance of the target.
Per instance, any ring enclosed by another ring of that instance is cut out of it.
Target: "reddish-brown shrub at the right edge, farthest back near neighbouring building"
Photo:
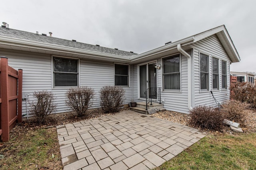
[[[230,98],[240,102],[247,102],[256,108],[256,85],[248,82],[237,82],[230,85]]]

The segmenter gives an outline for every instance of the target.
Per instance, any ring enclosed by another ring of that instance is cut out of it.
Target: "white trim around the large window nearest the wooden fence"
[[[54,62],[53,58],[54,57],[59,57],[59,58],[66,58],[66,59],[73,59],[73,60],[78,60],[78,80],[77,80],[77,86],[54,86]],[[79,58],[74,58],[74,57],[64,57],[64,56],[58,56],[58,55],[52,55],[51,57],[51,76],[52,76],[52,90],[54,89],[69,89],[69,88],[78,88],[80,86],[80,59]]]

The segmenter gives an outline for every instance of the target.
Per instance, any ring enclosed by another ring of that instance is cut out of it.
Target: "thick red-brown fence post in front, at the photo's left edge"
[[[8,82],[8,58],[1,57],[1,119],[2,119],[2,141],[9,141],[9,82]]]

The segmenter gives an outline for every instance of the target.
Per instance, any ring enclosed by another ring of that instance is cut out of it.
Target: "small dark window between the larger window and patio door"
[[[129,65],[114,64],[115,86],[129,86]]]

